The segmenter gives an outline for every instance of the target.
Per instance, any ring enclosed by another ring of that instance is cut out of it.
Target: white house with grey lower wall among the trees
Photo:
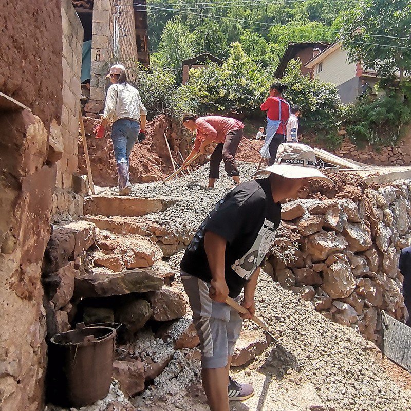
[[[363,70],[361,63],[348,62],[347,51],[340,42],[335,42],[321,51],[314,50],[313,58],[305,65],[312,70],[312,77],[337,86],[341,101],[353,103],[361,94],[361,80],[373,87],[379,80],[377,73]]]

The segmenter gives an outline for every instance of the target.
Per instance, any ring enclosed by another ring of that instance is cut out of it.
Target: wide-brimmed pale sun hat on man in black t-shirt
[[[318,168],[314,151],[305,144],[283,143],[277,151],[275,163],[254,175],[278,174],[286,178],[312,178],[332,183]]]

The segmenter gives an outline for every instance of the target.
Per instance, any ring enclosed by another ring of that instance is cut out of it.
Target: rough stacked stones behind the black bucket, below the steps
[[[89,221],[54,225],[44,255],[47,337],[70,323],[121,323],[114,377],[128,396],[158,378],[173,384],[176,367],[198,371],[199,340],[183,293],[164,285],[173,272],[162,258],[150,238]]]

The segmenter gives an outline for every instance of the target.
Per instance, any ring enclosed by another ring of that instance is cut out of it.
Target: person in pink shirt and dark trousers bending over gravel
[[[217,143],[210,159],[209,188],[214,187],[215,180],[220,178],[220,163],[224,161],[227,175],[233,177],[234,184],[240,183],[240,174],[235,163],[235,153],[242,138],[244,124],[231,117],[206,116],[186,114],[183,124],[192,132],[196,132],[196,141],[191,153],[185,159],[186,165],[198,152],[204,153],[211,143]]]

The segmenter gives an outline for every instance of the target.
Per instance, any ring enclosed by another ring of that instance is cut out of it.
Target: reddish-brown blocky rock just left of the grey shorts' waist
[[[148,295],[153,308],[153,320],[169,321],[185,315],[185,298],[181,291],[172,287],[163,287]]]

